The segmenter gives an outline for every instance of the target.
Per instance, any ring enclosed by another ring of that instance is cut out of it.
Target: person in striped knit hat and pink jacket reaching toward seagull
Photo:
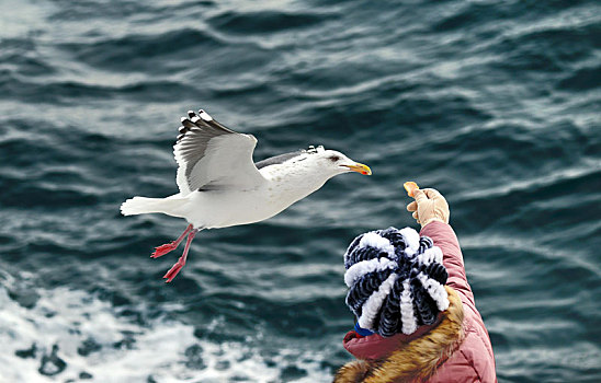
[[[358,360],[340,368],[334,383],[497,382],[449,205],[431,188],[415,199],[407,210],[419,234],[376,230],[344,254],[345,303],[358,322],[343,346]]]

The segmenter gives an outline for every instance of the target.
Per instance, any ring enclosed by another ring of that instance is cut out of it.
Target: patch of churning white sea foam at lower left
[[[326,356],[319,357],[309,350],[280,349],[268,362],[256,339],[217,344],[196,338],[191,325],[166,318],[139,325],[120,316],[117,307],[82,291],[57,288],[36,292],[39,294],[36,305],[25,309],[10,299],[7,289],[0,286],[0,343],[3,348],[0,365],[1,378],[7,382],[80,381],[82,371],[93,375],[89,382],[146,382],[149,375],[161,383],[227,382],[235,376],[246,376],[250,382],[273,382],[281,379],[290,360],[307,372],[297,382],[331,379],[330,372],[320,367]],[[114,345],[124,339],[124,333],[134,341],[131,347],[115,348]],[[90,338],[101,348],[81,356],[78,347]],[[33,344],[37,349],[35,358],[15,356],[15,351],[30,349]],[[54,345],[58,346],[57,355],[67,368],[53,376],[42,375],[38,372],[42,356],[49,353]],[[185,350],[192,346],[202,350],[202,369],[185,364],[189,361]]]

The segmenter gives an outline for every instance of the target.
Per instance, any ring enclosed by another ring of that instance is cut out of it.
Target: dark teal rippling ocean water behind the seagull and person
[[[601,4],[2,0],[0,382],[328,382],[342,254],[441,190],[500,382],[601,381]],[[122,217],[177,193],[180,116],[368,164],[258,224]]]

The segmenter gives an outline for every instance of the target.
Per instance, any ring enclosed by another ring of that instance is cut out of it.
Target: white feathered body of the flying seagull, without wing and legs
[[[264,181],[252,188],[215,188],[167,198],[134,197],[122,205],[121,211],[124,216],[159,212],[181,217],[199,229],[263,221],[317,192],[329,178],[349,172],[347,167],[331,169],[330,155],[343,159],[341,153],[331,150],[319,156],[306,154],[302,162],[261,169],[259,173]],[[348,163],[354,165],[350,160]]]

